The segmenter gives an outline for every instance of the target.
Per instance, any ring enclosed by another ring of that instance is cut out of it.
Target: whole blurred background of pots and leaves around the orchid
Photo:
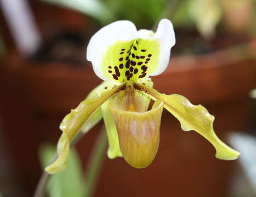
[[[90,37],[116,20],[156,30],[162,18],[173,22],[177,43],[170,66],[152,77],[155,88],[205,106],[215,116],[217,135],[242,155],[236,161],[216,159],[209,142],[183,132],[164,111],[153,163],[138,170],[105,154],[92,196],[256,196],[256,94],[249,94],[256,88],[255,0],[0,3],[3,196],[33,195],[54,150],[50,144],[61,135],[62,118],[101,82],[85,57]],[[77,143],[69,171],[55,179],[49,196],[83,196],[79,180],[102,125]]]

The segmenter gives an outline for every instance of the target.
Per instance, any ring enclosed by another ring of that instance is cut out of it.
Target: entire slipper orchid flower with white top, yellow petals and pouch
[[[160,21],[156,33],[137,31],[130,21],[116,21],[96,32],[88,44],[87,59],[104,82],[62,120],[58,158],[45,170],[64,170],[72,140],[101,118],[109,140],[108,157],[124,157],[136,168],[149,166],[160,141],[163,108],[180,121],[181,129],[194,130],[211,142],[217,158],[236,159],[240,153],[215,135],[214,116],[206,108],[192,105],[184,96],[160,94],[152,88],[149,77],[166,69],[174,44],[173,26],[167,19]],[[151,99],[155,102],[147,110]]]

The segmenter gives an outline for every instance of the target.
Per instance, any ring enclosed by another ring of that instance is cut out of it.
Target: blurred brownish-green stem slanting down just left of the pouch
[[[104,128],[101,129],[100,134],[96,140],[94,145],[93,151],[90,155],[87,171],[86,171],[86,183],[87,183],[87,190],[86,190],[86,197],[92,196],[96,181],[99,178],[99,172],[101,166],[103,164],[104,155],[106,154],[107,148],[107,135]]]

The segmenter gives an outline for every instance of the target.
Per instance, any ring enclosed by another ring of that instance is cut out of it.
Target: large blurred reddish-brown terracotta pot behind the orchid
[[[217,56],[216,56],[217,55]],[[215,57],[215,58],[213,58]],[[56,143],[66,113],[100,83],[92,67],[16,61],[2,69],[1,116],[15,171],[32,190],[41,173],[38,147]],[[229,62],[218,54],[174,57],[172,65],[153,77],[155,88],[201,103],[215,115],[215,131],[243,130],[248,91],[256,87],[255,60]],[[99,126],[77,145],[84,166]],[[122,158],[106,159],[95,196],[227,196],[235,161],[215,159],[214,148],[194,131],[183,132],[178,120],[163,113],[160,148],[147,169],[130,167]]]

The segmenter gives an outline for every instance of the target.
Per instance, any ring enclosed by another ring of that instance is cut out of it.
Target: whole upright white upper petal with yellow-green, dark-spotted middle
[[[160,21],[156,34],[149,30],[137,32],[132,22],[117,21],[92,37],[87,59],[103,80],[138,82],[166,69],[174,44],[173,26],[167,19]]]

